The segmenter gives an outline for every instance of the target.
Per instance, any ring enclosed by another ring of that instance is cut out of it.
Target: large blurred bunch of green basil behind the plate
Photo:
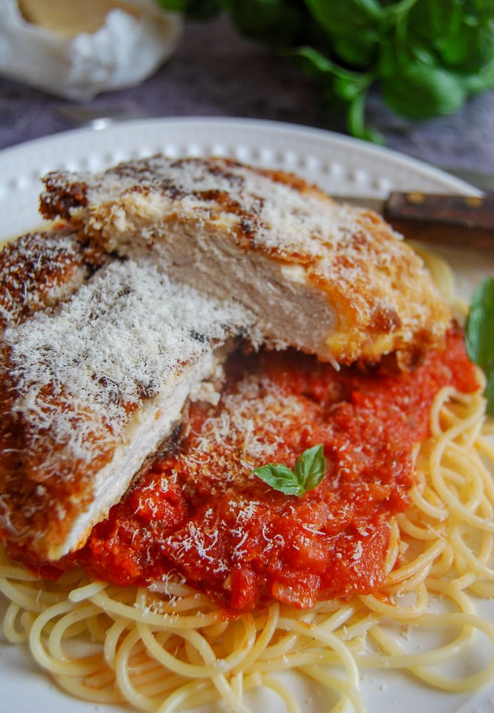
[[[371,91],[395,113],[424,119],[494,87],[492,0],[156,2],[189,19],[228,14],[243,36],[298,63],[358,138],[382,140],[367,125]]]

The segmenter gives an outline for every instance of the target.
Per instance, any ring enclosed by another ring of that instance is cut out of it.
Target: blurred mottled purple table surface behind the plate
[[[0,78],[0,148],[73,128],[60,98]],[[243,116],[346,133],[337,113],[321,111],[316,87],[298,69],[236,34],[227,19],[188,24],[178,51],[140,86],[100,95],[90,106],[144,116]],[[368,121],[389,148],[445,167],[494,174],[494,92],[472,98],[454,116],[410,122],[368,102]]]

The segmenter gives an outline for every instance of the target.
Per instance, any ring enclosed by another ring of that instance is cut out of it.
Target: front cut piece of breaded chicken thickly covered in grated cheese
[[[146,259],[109,262],[54,311],[6,327],[3,452],[18,458],[9,456],[0,514],[11,534],[30,533],[49,558],[84,541],[186,399],[211,396],[201,383],[247,331],[247,309],[176,284]]]

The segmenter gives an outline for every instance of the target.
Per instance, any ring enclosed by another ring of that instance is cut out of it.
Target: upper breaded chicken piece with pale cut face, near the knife
[[[420,258],[381,217],[288,173],[156,155],[97,175],[51,173],[45,186],[46,217],[237,299],[281,348],[333,364],[393,353],[407,368],[451,319]]]

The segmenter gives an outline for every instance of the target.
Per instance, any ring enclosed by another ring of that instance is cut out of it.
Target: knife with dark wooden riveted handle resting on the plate
[[[338,202],[370,208],[409,240],[494,248],[494,193],[441,195],[393,191],[387,198],[333,195]]]

